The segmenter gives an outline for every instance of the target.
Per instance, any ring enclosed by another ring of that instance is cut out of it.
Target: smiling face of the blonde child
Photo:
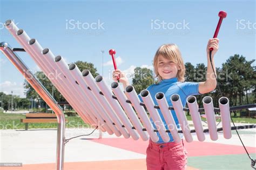
[[[180,67],[170,59],[166,59],[163,56],[158,57],[158,73],[162,79],[177,77],[178,70],[180,70]]]

